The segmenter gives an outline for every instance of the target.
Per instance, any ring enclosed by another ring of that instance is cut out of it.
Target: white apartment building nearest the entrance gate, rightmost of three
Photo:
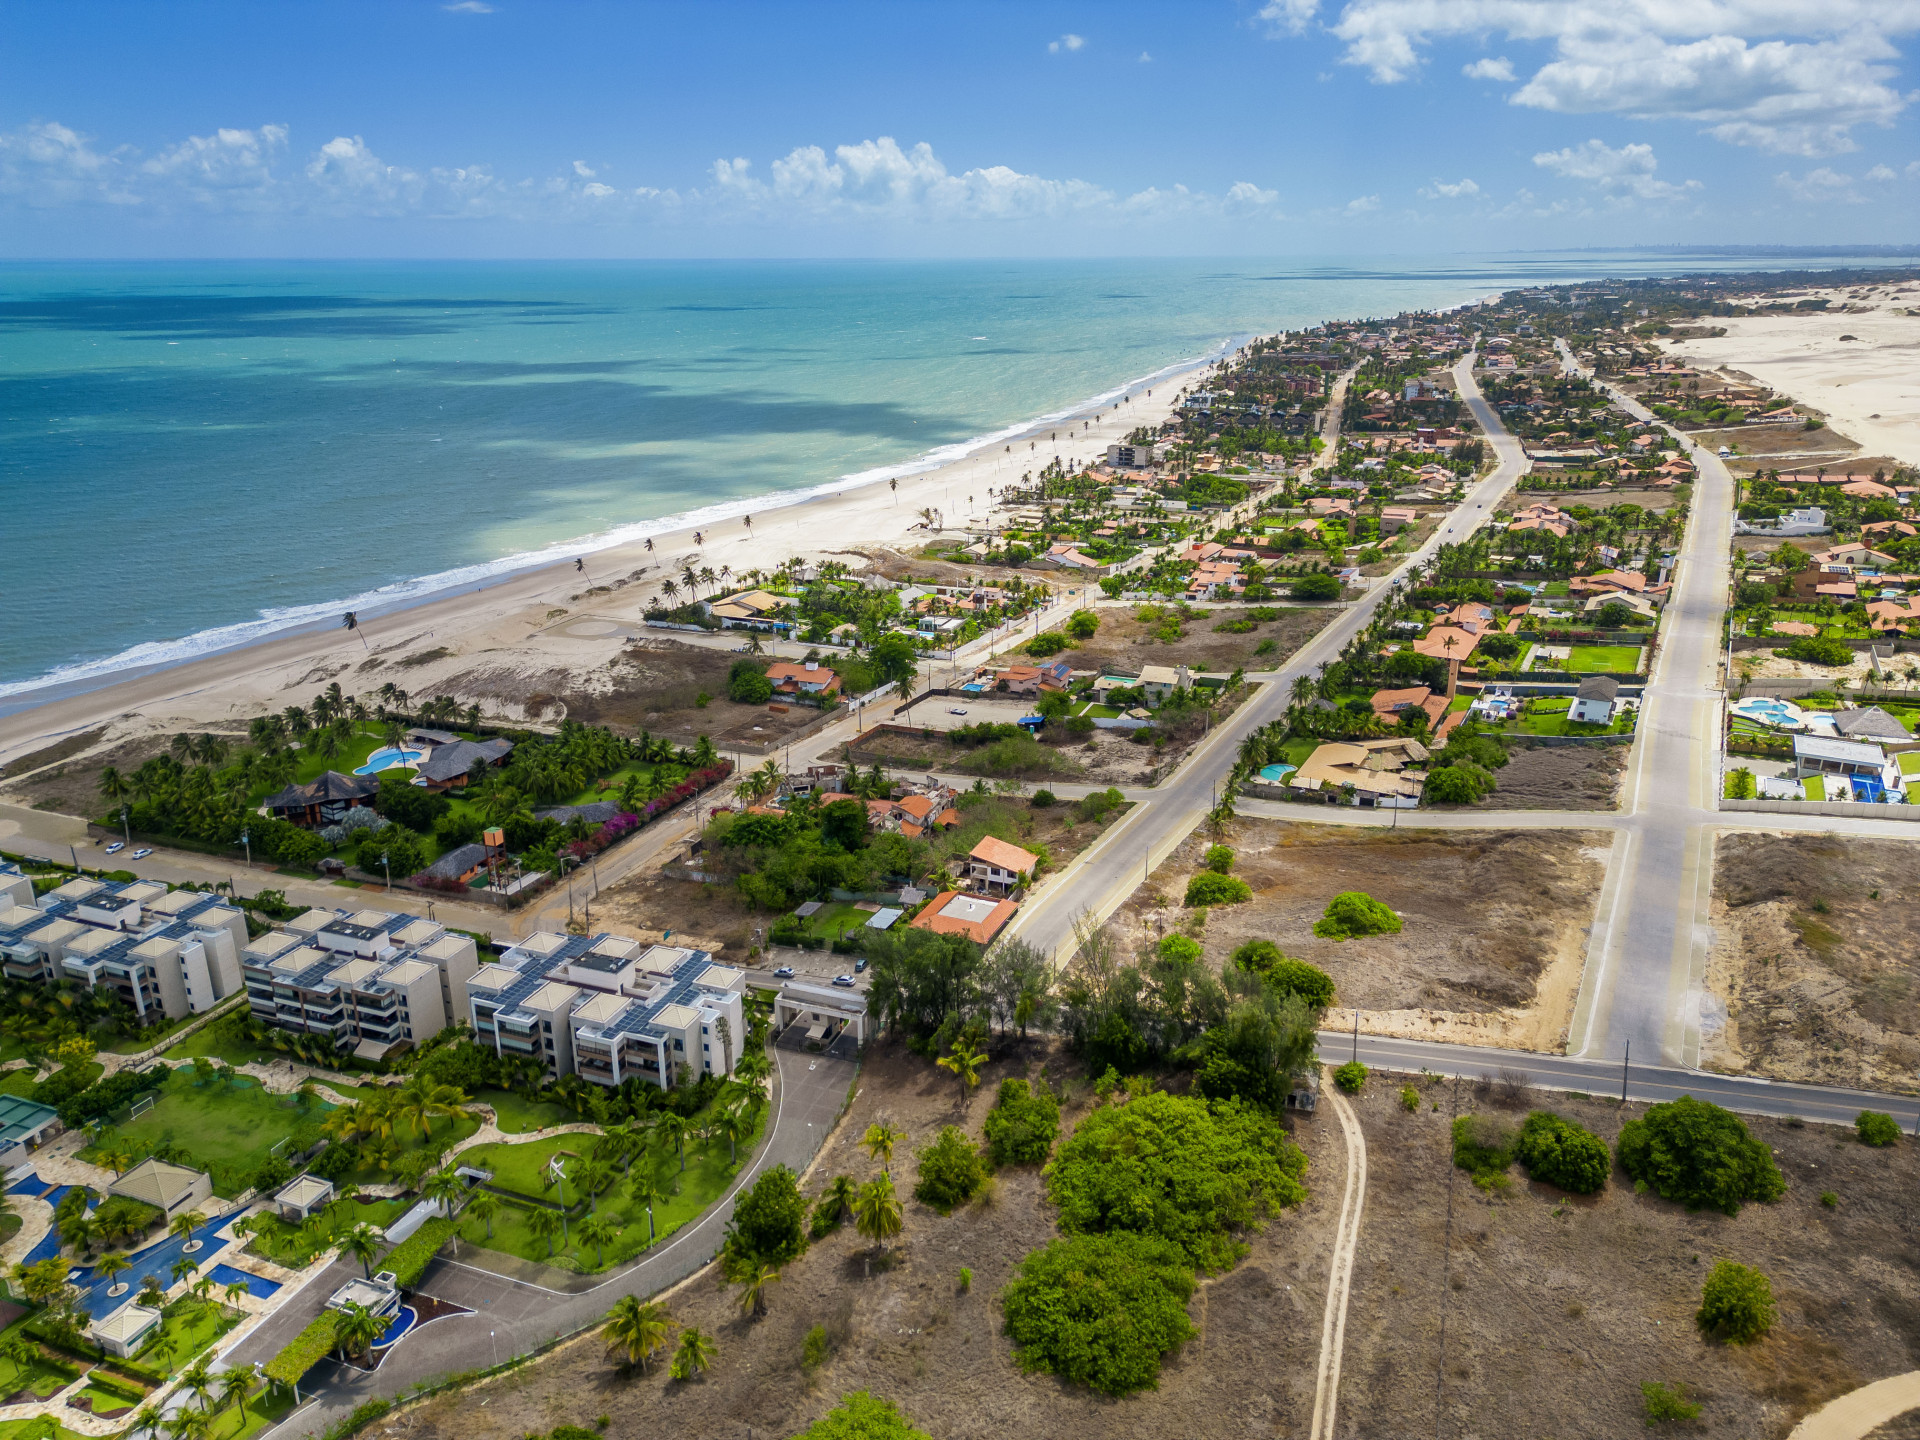
[[[668,1089],[682,1073],[733,1073],[747,975],[707,950],[543,931],[480,970],[467,995],[474,1039],[501,1056],[532,1056],[555,1077]]]

